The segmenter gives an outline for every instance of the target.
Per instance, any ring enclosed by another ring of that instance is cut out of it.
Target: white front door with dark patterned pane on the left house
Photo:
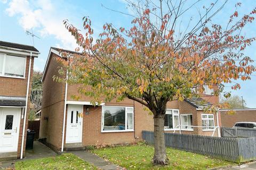
[[[21,108],[0,107],[0,152],[18,149]]]

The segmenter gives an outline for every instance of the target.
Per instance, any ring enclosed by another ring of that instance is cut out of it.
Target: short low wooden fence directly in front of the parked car
[[[256,129],[252,128],[221,128],[222,137],[227,138],[250,138],[256,137]]]

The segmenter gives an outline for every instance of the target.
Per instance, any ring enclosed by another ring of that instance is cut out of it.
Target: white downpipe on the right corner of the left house
[[[27,118],[27,110],[28,110],[28,94],[29,94],[29,83],[30,83],[30,72],[31,72],[31,60],[32,60],[32,52],[30,52],[30,57],[29,57],[28,83],[27,83],[27,94],[26,94],[26,107],[25,107],[25,114],[24,114],[24,117],[23,117],[23,129],[22,129],[20,159],[23,158],[23,147],[24,147],[24,138],[25,138],[26,118]]]

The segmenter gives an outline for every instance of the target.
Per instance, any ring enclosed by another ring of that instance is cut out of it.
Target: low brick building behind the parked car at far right
[[[229,111],[234,111],[230,113]],[[232,128],[236,122],[256,122],[256,108],[221,109],[221,125]],[[250,128],[250,127],[244,127]]]

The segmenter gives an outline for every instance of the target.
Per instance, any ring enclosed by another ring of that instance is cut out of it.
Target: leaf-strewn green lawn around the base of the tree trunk
[[[127,169],[208,169],[234,163],[191,152],[167,148],[169,166],[153,166],[154,148],[145,144],[91,150],[94,154]]]

